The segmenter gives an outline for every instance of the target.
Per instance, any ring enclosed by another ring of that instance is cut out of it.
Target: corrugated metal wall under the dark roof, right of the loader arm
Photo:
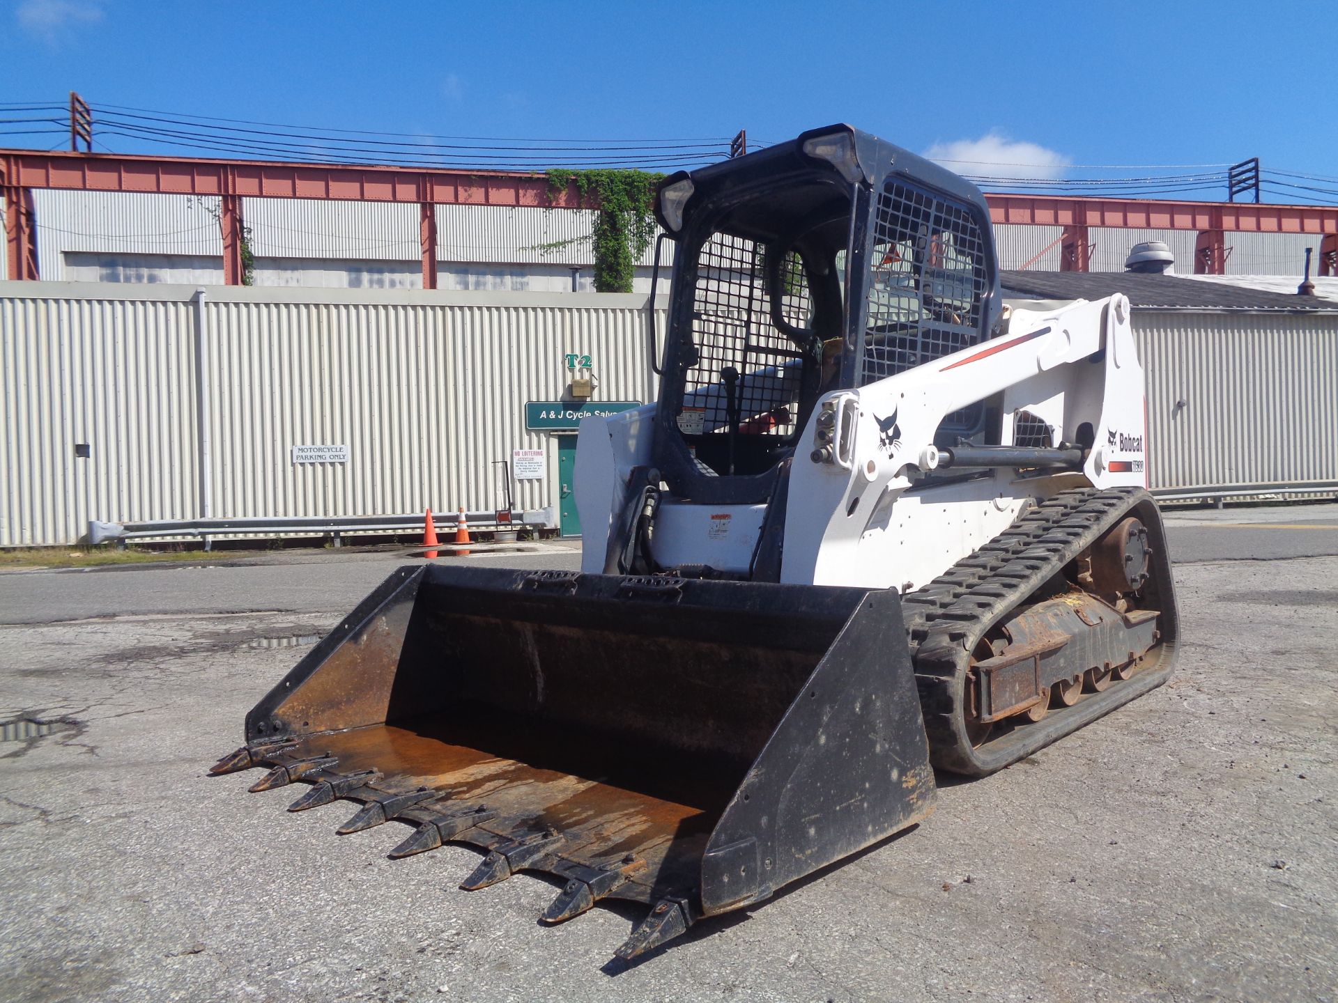
[[[1136,310],[1133,330],[1151,487],[1338,480],[1338,317]]]

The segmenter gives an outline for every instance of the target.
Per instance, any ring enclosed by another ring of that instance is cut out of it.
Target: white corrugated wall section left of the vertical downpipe
[[[90,518],[195,514],[189,304],[9,293],[0,330],[0,546],[70,543]]]

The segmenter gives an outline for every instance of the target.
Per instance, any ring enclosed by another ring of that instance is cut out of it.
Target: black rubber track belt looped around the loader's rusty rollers
[[[1152,574],[1164,607],[1159,625],[1165,638],[1161,657],[1104,693],[1085,694],[1072,707],[1052,710],[1042,721],[1014,728],[973,749],[961,703],[975,645],[1135,508],[1140,510],[1153,540]],[[1002,769],[1147,693],[1169,675],[1176,610],[1156,503],[1143,488],[1064,491],[923,588],[902,596],[902,614],[934,765],[967,776]]]

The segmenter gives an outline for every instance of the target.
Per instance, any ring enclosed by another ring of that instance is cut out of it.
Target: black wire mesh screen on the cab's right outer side
[[[985,243],[965,206],[890,181],[878,194],[859,384],[981,341]]]

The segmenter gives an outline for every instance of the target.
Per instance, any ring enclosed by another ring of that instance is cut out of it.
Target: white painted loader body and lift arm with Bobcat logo
[[[1016,304],[1002,337],[822,399],[789,479],[781,582],[913,591],[995,538],[1033,500],[1082,481],[1145,485],[1143,368],[1128,300],[1049,306]],[[1005,445],[1017,443],[1024,412],[1049,428],[1046,447],[1074,440],[1084,424],[1094,429],[1081,473],[995,467],[943,484],[926,479],[941,461],[934,433],[945,416],[991,397],[1002,401]],[[828,404],[839,416],[835,449],[830,461],[815,461],[816,424]],[[654,412],[652,404],[581,424],[583,571],[603,571],[628,477],[650,463]],[[764,515],[760,504],[666,497],[653,554],[666,567],[744,572]]]

